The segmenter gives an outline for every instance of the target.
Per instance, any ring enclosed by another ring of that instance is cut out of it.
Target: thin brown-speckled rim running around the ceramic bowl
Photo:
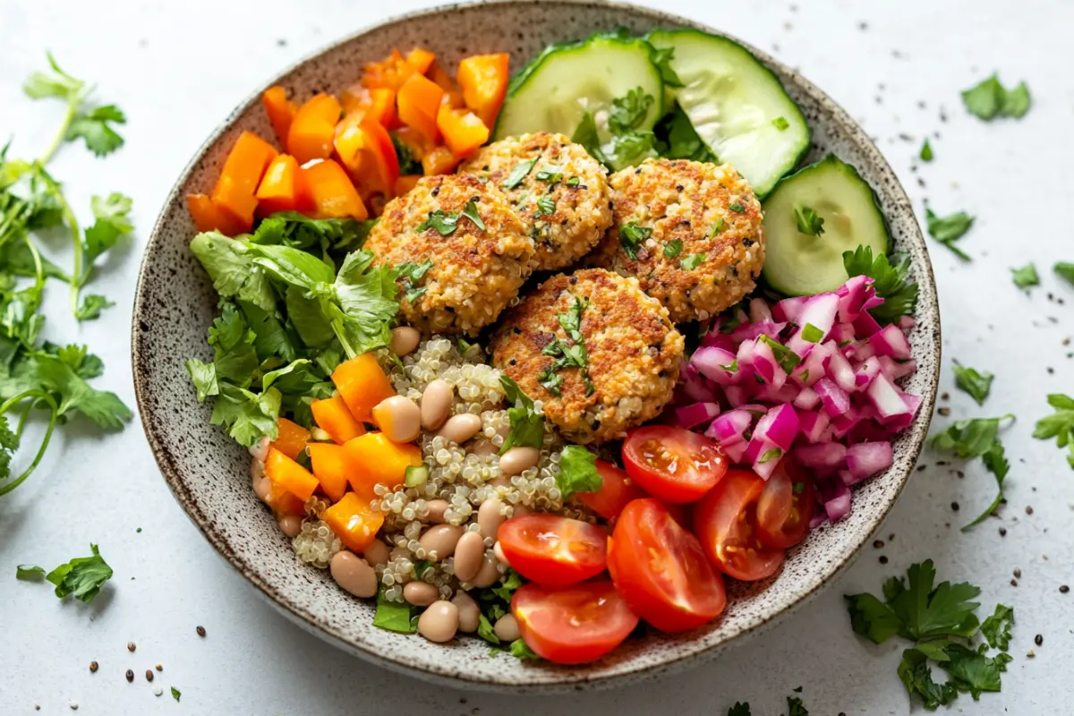
[[[134,303],[133,311],[131,316],[131,364],[133,367],[133,381],[134,381],[134,394],[135,401],[137,405],[137,411],[140,419],[142,421],[143,432],[146,435],[146,439],[149,443],[149,448],[154,454],[154,458],[157,462],[158,467],[161,470],[161,474],[169,485],[173,496],[183,507],[184,512],[187,517],[193,523],[194,527],[205,537],[205,539],[213,545],[216,553],[224,559],[231,567],[238,571],[253,587],[256,587],[256,593],[264,599],[275,611],[284,615],[293,624],[301,627],[303,630],[319,637],[320,639],[331,643],[337,648],[340,648],[349,654],[358,656],[365,661],[375,663],[382,668],[388,668],[391,671],[397,673],[404,673],[408,675],[413,675],[413,673],[420,672],[423,678],[437,682],[442,685],[451,686],[454,688],[467,687],[474,689],[484,689],[484,690],[498,690],[498,691],[510,691],[514,693],[520,692],[531,692],[531,693],[562,693],[578,690],[580,688],[614,688],[626,684],[630,681],[638,680],[649,680],[654,678],[659,675],[670,674],[679,671],[683,671],[687,668],[698,666],[705,661],[715,658],[720,653],[729,647],[732,644],[741,642],[744,638],[761,633],[778,622],[785,618],[787,615],[798,611],[804,604],[810,602],[814,597],[816,597],[821,591],[827,588],[832,582],[834,582],[843,572],[860,556],[861,551],[868,543],[869,539],[865,539],[859,543],[850,554],[842,556],[838,560],[838,564],[831,568],[831,571],[822,576],[822,579],[808,591],[796,593],[792,596],[792,601],[787,603],[782,610],[774,614],[770,614],[760,618],[755,618],[753,623],[743,626],[738,631],[729,634],[723,642],[714,644],[703,651],[699,652],[687,652],[682,655],[676,655],[672,658],[659,661],[657,663],[651,663],[636,669],[627,669],[622,673],[599,676],[596,678],[587,677],[585,670],[578,670],[568,673],[563,672],[564,677],[554,683],[538,683],[538,684],[525,684],[525,683],[509,683],[505,681],[497,681],[493,678],[468,678],[462,672],[451,671],[450,669],[432,667],[426,664],[411,663],[407,661],[405,657],[390,657],[381,653],[377,653],[369,647],[354,643],[348,640],[343,634],[338,633],[333,628],[321,624],[316,615],[305,611],[301,607],[291,603],[286,597],[276,593],[271,584],[261,580],[252,570],[250,570],[244,560],[238,558],[238,556],[231,550],[227,541],[218,535],[212,527],[212,523],[206,516],[197,508],[197,502],[190,499],[189,489],[184,483],[180,476],[180,467],[178,466],[175,456],[170,453],[168,448],[162,443],[162,441],[155,434],[149,420],[147,419],[147,412],[150,410],[147,398],[148,391],[148,377],[143,375],[148,372],[145,370],[146,363],[140,360],[140,355],[143,350],[143,339],[142,331],[140,330],[140,317],[145,311],[145,305],[147,302],[147,278],[146,268],[149,262],[150,254],[155,252],[159,244],[163,240],[161,237],[163,228],[165,225],[165,218],[168,214],[168,207],[171,206],[177,195],[179,195],[186,182],[189,180],[190,175],[194,172],[197,166],[200,164],[202,159],[205,157],[207,151],[220,140],[220,137],[231,130],[238,118],[245,114],[253,104],[260,101],[262,92],[268,87],[278,84],[282,78],[287,77],[291,73],[295,72],[306,63],[314,61],[324,55],[337,52],[342,46],[354,42],[359,38],[376,31],[378,29],[407,23],[409,20],[427,17],[433,15],[439,15],[444,13],[453,13],[460,10],[468,10],[473,8],[479,8],[484,5],[563,5],[567,8],[592,8],[600,10],[611,10],[611,11],[623,11],[629,12],[635,15],[645,16],[652,19],[655,24],[671,24],[683,28],[692,28],[701,30],[703,32],[709,32],[720,36],[727,38],[734,42],[739,43],[748,50],[750,50],[758,60],[770,68],[777,68],[781,70],[784,75],[788,77],[788,85],[794,85],[801,92],[809,94],[813,98],[819,105],[822,105],[827,112],[831,114],[831,119],[834,123],[840,127],[842,133],[846,135],[846,138],[854,143],[858,150],[868,158],[869,163],[875,167],[881,177],[888,184],[889,193],[892,199],[892,215],[909,215],[913,220],[910,222],[912,227],[911,231],[906,232],[905,242],[915,245],[925,257],[925,261],[921,262],[920,266],[916,266],[919,269],[919,296],[918,296],[918,312],[926,310],[931,312],[935,317],[934,330],[930,336],[926,337],[925,350],[932,352],[935,356],[937,368],[933,372],[931,382],[927,385],[925,394],[921,396],[923,401],[918,409],[918,414],[914,420],[912,432],[913,435],[910,436],[910,453],[913,456],[913,462],[906,464],[905,469],[899,474],[888,474],[885,479],[897,480],[898,485],[895,495],[883,507],[882,510],[877,512],[875,516],[871,518],[868,523],[868,534],[874,535],[880,527],[883,525],[887,515],[890,513],[891,509],[895,507],[901,497],[903,491],[905,489],[906,483],[913,473],[913,466],[916,464],[917,458],[920,456],[921,450],[925,444],[925,438],[928,434],[928,427],[932,419],[932,412],[935,406],[937,393],[939,391],[940,382],[940,362],[942,353],[942,339],[941,339],[941,324],[940,324],[940,307],[939,299],[935,290],[935,277],[932,271],[932,264],[928,255],[928,246],[925,242],[925,237],[920,230],[920,224],[916,219],[916,215],[913,211],[913,206],[910,199],[906,195],[905,189],[902,182],[899,181],[898,176],[895,171],[887,163],[881,150],[876,147],[875,143],[869,137],[866,131],[850,116],[850,114],[842,108],[834,100],[828,97],[823,90],[816,87],[813,83],[806,79],[797,70],[789,68],[785,63],[770,56],[769,54],[758,49],[750,43],[746,43],[739,38],[729,34],[727,32],[721,31],[716,28],[710,27],[703,23],[698,23],[686,17],[674,15],[672,13],[667,13],[662,10],[654,8],[636,5],[630,2],[622,2],[620,0],[467,0],[464,2],[456,2],[444,5],[437,5],[434,8],[427,8],[423,10],[418,10],[401,15],[394,15],[388,17],[379,23],[372,25],[366,25],[358,30],[348,33],[339,39],[332,41],[331,43],[319,47],[318,49],[303,56],[300,60],[291,63],[282,71],[275,73],[268,81],[258,85],[258,88],[242,100],[231,113],[209,133],[206,140],[198,147],[198,149],[192,155],[190,161],[186,164],[183,171],[179,173],[178,178],[173,185],[172,189],[169,191],[166,199],[164,200],[161,213],[157,220],[154,222],[153,231],[146,242],[145,249],[143,252],[142,261],[139,265],[139,278],[134,292]],[[782,77],[781,77],[782,82]],[[886,220],[887,217],[885,217]]]

